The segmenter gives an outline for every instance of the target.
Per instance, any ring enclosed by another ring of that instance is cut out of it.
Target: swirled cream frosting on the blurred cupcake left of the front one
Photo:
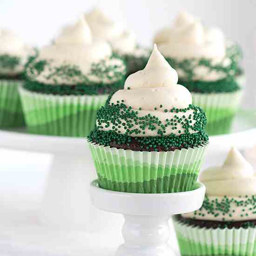
[[[104,40],[93,40],[88,24],[80,18],[66,27],[54,44],[40,49],[27,68],[30,80],[48,85],[110,84],[125,74],[123,61],[112,57]]]

